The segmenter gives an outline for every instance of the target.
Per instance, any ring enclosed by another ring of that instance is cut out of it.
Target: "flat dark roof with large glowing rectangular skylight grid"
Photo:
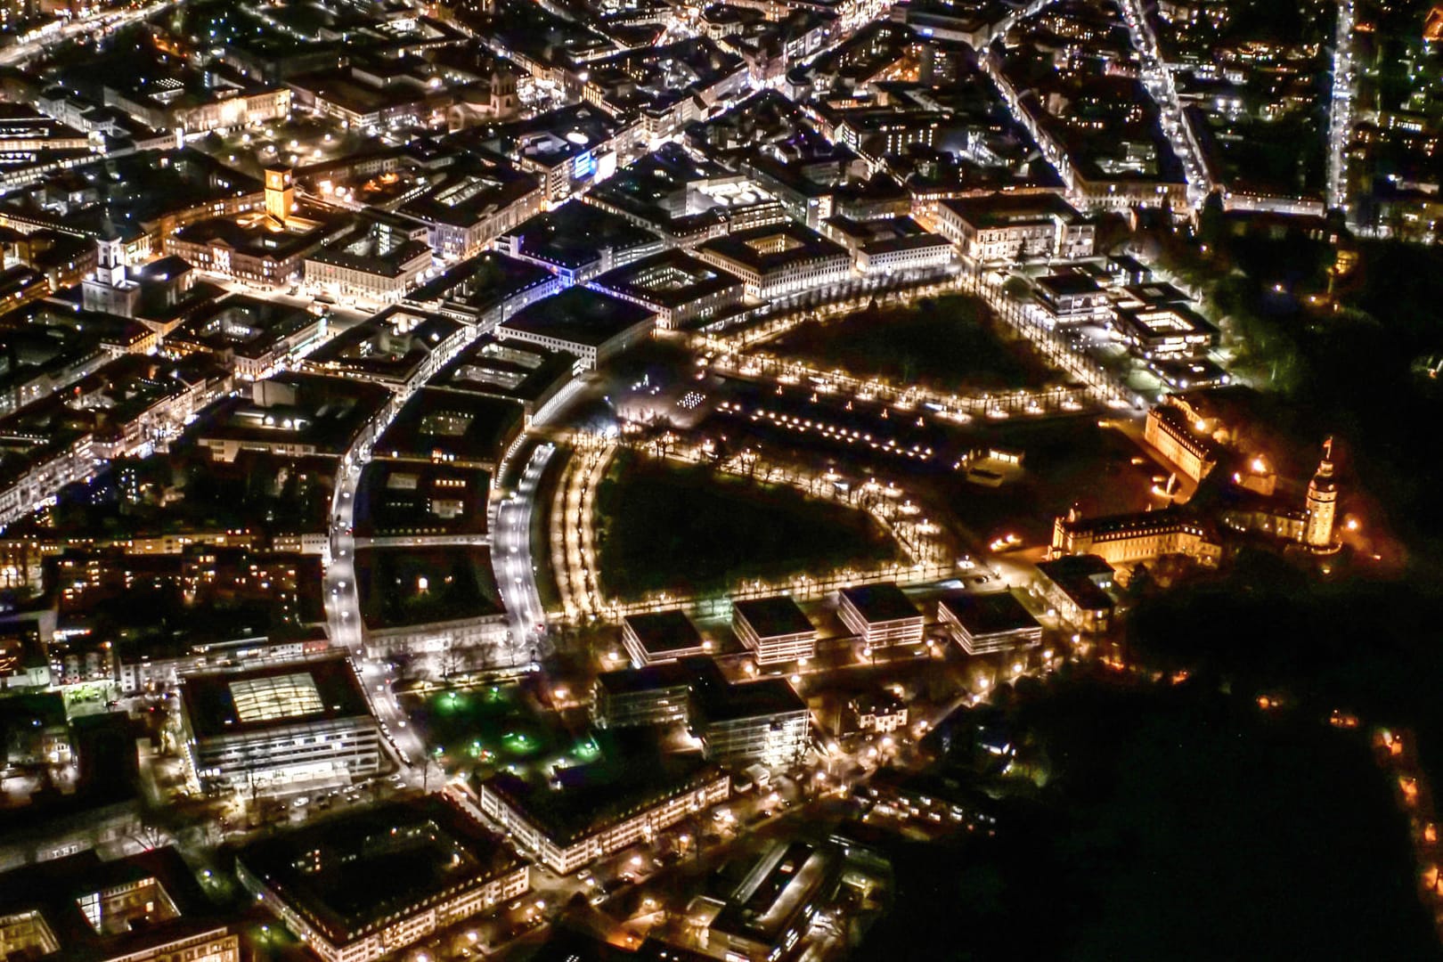
[[[189,675],[180,704],[198,738],[371,715],[361,681],[345,658]]]

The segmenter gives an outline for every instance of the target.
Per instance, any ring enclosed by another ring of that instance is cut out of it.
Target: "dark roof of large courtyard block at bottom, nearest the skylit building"
[[[522,865],[499,838],[436,796],[284,832],[237,858],[335,943]]]

